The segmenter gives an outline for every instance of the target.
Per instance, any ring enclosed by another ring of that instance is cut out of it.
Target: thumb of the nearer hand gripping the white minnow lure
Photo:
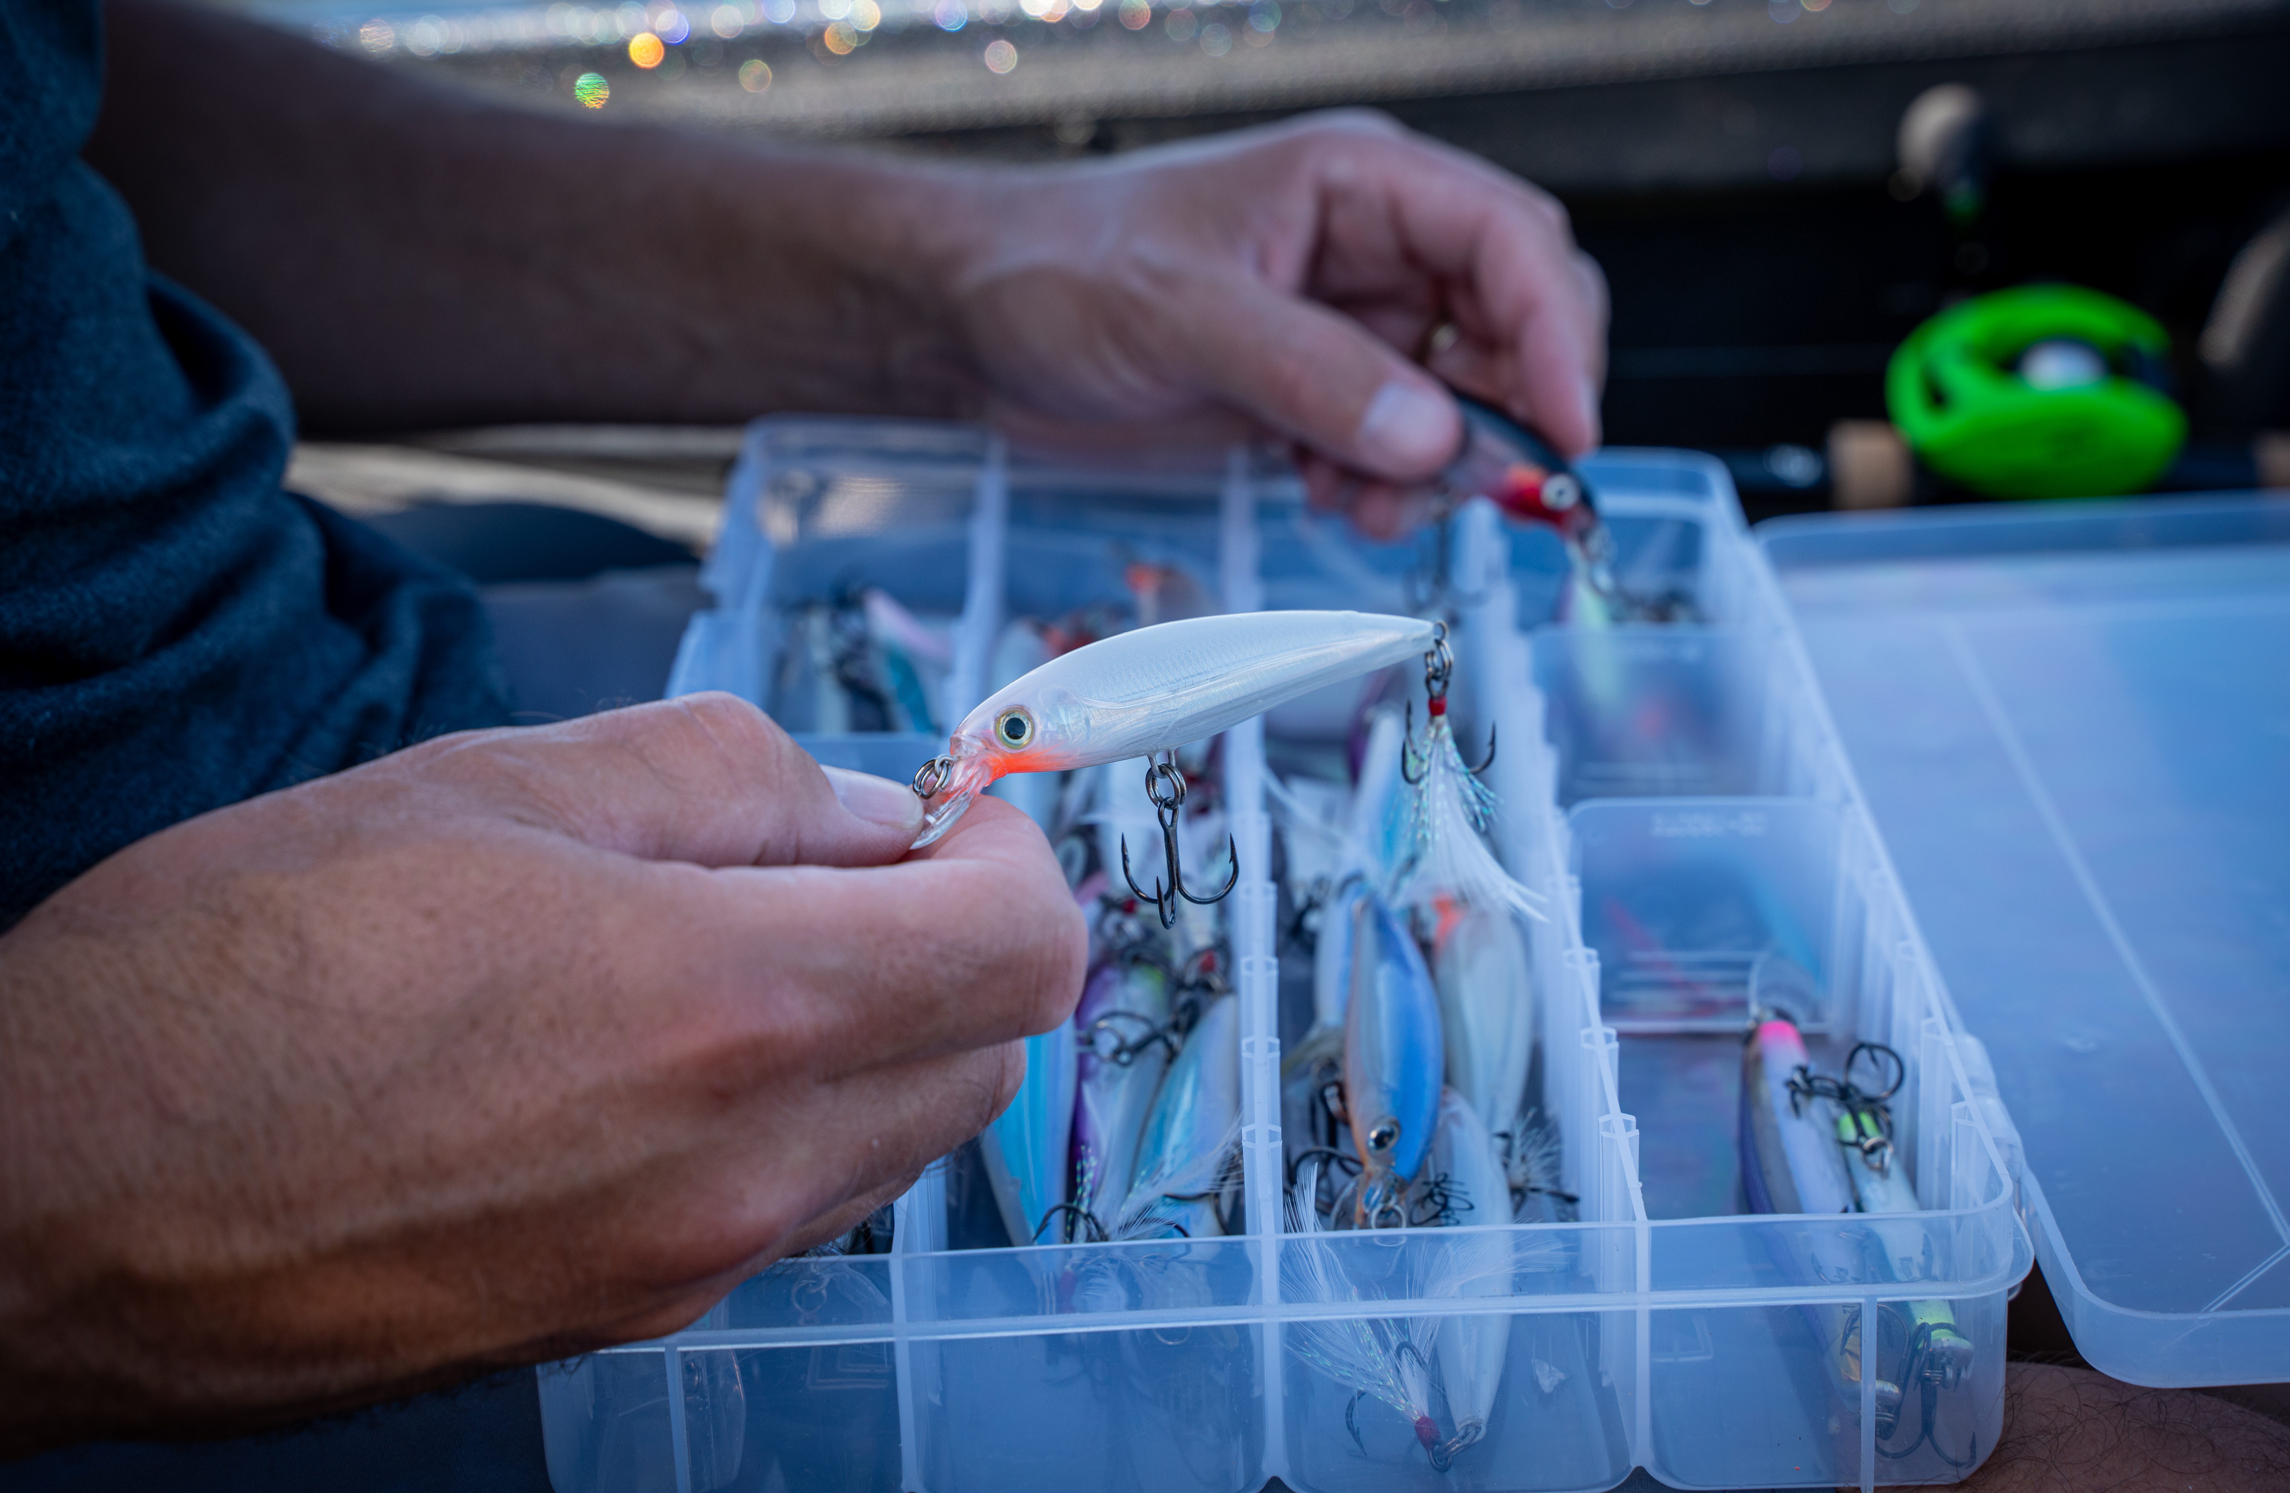
[[[435,769],[495,811],[646,861],[889,866],[923,827],[911,788],[820,767],[767,714],[728,694],[440,746]]]

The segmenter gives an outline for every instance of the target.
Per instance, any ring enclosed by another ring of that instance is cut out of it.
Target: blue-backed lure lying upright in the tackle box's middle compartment
[[[1344,1012],[1344,1108],[1360,1159],[1360,1227],[1408,1223],[1408,1184],[1438,1122],[1445,1044],[1438,989],[1415,937],[1376,898],[1353,909]]]

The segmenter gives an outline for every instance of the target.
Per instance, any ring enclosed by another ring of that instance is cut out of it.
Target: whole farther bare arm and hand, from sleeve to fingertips
[[[1598,442],[1605,282],[1564,208],[1376,114],[1090,165],[918,163],[504,110],[204,5],[105,16],[89,160],[314,430],[763,410],[1269,430],[1379,534],[1459,444],[1440,380],[1566,453]]]

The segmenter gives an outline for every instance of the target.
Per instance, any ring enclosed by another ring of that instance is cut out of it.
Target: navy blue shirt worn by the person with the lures
[[[0,930],[167,824],[506,719],[476,595],[279,490],[254,341],[78,156],[96,0],[0,5]]]

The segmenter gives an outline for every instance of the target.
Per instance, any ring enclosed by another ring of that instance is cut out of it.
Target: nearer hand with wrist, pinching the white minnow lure
[[[838,797],[840,795],[840,797]],[[1008,1104],[1081,916],[701,696],[151,836],[0,939],[0,1452],[687,1324]]]

